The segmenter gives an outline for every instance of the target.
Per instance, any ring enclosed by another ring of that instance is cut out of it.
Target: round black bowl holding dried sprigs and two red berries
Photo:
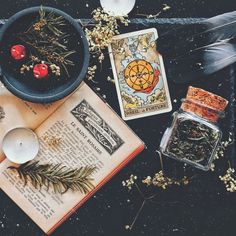
[[[63,16],[68,23],[66,26],[66,30],[70,34],[68,45],[70,50],[76,51],[70,59],[75,62],[75,65],[70,67],[69,78],[63,74],[60,79],[37,80],[33,78],[33,74],[22,77],[19,73],[22,62],[11,58],[10,48],[12,45],[18,44],[16,34],[29,27],[30,22],[35,21],[39,9],[40,7],[32,7],[20,11],[13,15],[1,28],[1,80],[9,91],[23,100],[35,103],[51,103],[69,95],[84,79],[89,65],[89,48],[81,26],[71,16],[54,8],[43,7],[46,13],[52,11],[56,15]]]

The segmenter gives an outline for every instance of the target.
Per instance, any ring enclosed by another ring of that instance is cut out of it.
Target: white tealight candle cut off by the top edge
[[[102,8],[110,15],[127,15],[134,8],[135,0],[100,0]]]

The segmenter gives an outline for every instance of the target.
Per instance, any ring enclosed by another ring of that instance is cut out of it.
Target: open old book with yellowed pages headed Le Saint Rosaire
[[[0,152],[1,189],[47,234],[144,148],[143,142],[85,83],[53,105],[24,102],[0,84],[0,114],[0,144],[9,129],[29,127],[40,140],[36,158],[40,163],[97,167],[91,192],[68,191],[60,195],[52,189],[36,190],[30,183],[24,186],[19,176],[7,169],[11,163]],[[45,135],[60,137],[62,142],[51,147]]]

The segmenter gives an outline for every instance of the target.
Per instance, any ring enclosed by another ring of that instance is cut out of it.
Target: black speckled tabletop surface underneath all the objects
[[[93,4],[96,2],[96,4]],[[4,5],[3,5],[4,3]],[[89,14],[99,1],[1,1],[0,18],[8,18],[23,8],[38,5],[50,5],[66,11],[75,18],[89,18]],[[89,7],[86,7],[88,3]],[[172,9],[162,17],[211,17],[227,11],[236,10],[234,0],[199,1],[199,0],[138,0],[140,13],[154,14],[162,3],[168,3]],[[136,16],[137,9],[132,17]],[[159,33],[169,29],[169,25],[151,24]],[[144,29],[147,26],[133,24],[123,31]],[[122,32],[123,32],[122,31]],[[173,42],[174,43],[174,42]],[[167,68],[168,69],[168,68]],[[221,122],[222,130],[227,138],[228,132],[234,128],[234,80],[236,66],[231,66],[209,78],[199,79],[192,85],[208,89],[230,100],[226,117]],[[105,78],[112,75],[109,59],[103,64],[103,70],[96,76],[100,87],[100,95],[105,94],[107,102],[119,112],[114,85],[106,82]],[[169,81],[173,102],[173,111],[180,106],[180,99],[185,96],[188,85],[175,85]],[[217,172],[202,172],[191,168],[182,168],[182,164],[165,160],[165,168],[175,175],[181,175],[185,170],[189,176],[194,176],[190,185],[174,187],[162,191],[143,189],[146,195],[158,193],[156,203],[147,203],[132,231],[124,226],[130,224],[135,216],[142,198],[137,191],[128,193],[122,188],[121,181],[131,173],[139,178],[153,175],[160,169],[156,154],[161,136],[171,121],[171,113],[148,117],[128,122],[128,125],[145,141],[147,149],[116,175],[108,184],[95,194],[86,204],[78,209],[53,236],[98,236],[98,235],[132,235],[132,236],[234,236],[236,219],[236,194],[225,191],[218,176],[225,172],[227,161],[217,161]],[[235,151],[231,146],[226,157],[234,162]],[[42,231],[3,193],[0,192],[0,235],[23,236],[43,235]]]

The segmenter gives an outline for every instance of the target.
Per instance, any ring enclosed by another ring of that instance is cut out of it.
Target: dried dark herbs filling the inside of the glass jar
[[[178,158],[206,165],[220,135],[217,130],[195,120],[178,119],[167,151]]]

